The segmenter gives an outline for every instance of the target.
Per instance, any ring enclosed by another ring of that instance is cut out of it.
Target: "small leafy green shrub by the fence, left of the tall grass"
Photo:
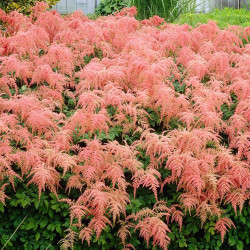
[[[107,16],[125,7],[127,7],[127,0],[101,0],[95,13],[100,16]]]

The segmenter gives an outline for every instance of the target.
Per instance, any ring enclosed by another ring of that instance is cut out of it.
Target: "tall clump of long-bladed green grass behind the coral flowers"
[[[139,19],[157,15],[172,22],[180,14],[194,11],[196,0],[130,0],[129,5],[137,7]]]

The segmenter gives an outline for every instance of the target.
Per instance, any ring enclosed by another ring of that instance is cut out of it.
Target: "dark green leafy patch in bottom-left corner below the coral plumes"
[[[12,191],[7,189],[10,195]],[[26,217],[20,228],[9,240],[5,249],[58,249],[57,243],[69,227],[69,208],[58,202],[52,193],[43,193],[40,201],[37,188],[23,183],[16,185],[16,192],[7,200],[6,207],[0,205],[0,243],[4,245],[11,234]],[[61,195],[59,195],[62,198]]]

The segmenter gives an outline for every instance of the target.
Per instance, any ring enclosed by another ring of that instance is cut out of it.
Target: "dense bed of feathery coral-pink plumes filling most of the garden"
[[[65,249],[110,228],[167,249],[190,216],[223,242],[249,203],[250,28],[45,9],[0,11],[0,202],[53,193]]]

